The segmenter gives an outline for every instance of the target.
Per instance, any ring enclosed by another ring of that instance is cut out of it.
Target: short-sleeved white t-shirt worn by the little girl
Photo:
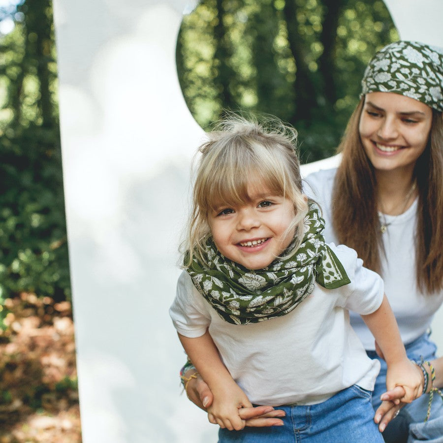
[[[200,337],[207,328],[231,376],[258,405],[315,404],[358,384],[373,390],[380,369],[349,324],[348,309],[377,310],[383,298],[379,275],[364,268],[346,246],[330,245],[350,284],[316,285],[293,311],[247,325],[224,321],[198,292],[187,272],[177,284],[170,315],[177,331]]]

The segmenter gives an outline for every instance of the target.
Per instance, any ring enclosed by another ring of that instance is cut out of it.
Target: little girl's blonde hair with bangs
[[[295,217],[291,251],[303,238],[303,219],[308,206],[302,194],[300,163],[296,148],[297,131],[273,117],[245,119],[231,114],[207,134],[200,154],[193,189],[192,208],[181,250],[184,266],[196,256],[205,263],[205,244],[211,237],[208,213],[223,202],[238,205],[250,200],[248,186],[263,183],[270,192],[290,199]]]

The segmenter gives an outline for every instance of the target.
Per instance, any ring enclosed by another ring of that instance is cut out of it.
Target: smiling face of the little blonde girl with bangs
[[[216,205],[208,214],[214,243],[226,258],[248,269],[262,269],[289,246],[295,217],[291,200],[265,186],[248,186],[249,200]]]

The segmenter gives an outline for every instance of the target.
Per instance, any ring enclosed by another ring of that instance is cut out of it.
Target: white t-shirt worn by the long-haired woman
[[[336,168],[310,174],[305,179],[304,192],[313,197],[323,211],[326,221],[326,242],[339,243],[332,228],[332,188]],[[416,284],[415,271],[415,225],[418,199],[399,216],[380,214],[381,222],[390,223],[382,235],[386,257],[381,268],[384,289],[397,319],[403,343],[408,344],[429,328],[434,313],[443,302],[443,291],[435,294],[422,293]],[[368,350],[374,350],[374,337],[361,317],[350,313],[351,324]]]

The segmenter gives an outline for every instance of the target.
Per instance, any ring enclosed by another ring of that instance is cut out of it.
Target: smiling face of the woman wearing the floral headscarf
[[[404,95],[366,94],[359,132],[366,155],[377,171],[413,171],[429,138],[432,110]]]

